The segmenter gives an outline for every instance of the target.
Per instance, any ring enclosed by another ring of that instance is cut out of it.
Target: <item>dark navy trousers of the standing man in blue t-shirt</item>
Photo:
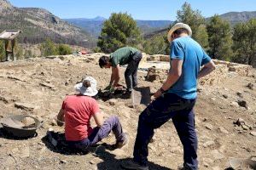
[[[195,99],[183,99],[170,93],[162,95],[148,105],[139,116],[137,138],[133,151],[134,161],[143,166],[148,164],[148,143],[154,135],[154,129],[172,118],[179,139],[183,144],[183,165],[189,170],[197,169],[194,105]]]

